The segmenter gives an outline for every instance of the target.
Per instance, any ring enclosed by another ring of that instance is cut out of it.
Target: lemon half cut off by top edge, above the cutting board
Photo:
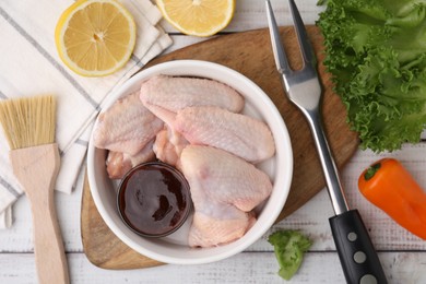
[[[235,0],[156,0],[164,19],[187,35],[211,36],[234,16]]]

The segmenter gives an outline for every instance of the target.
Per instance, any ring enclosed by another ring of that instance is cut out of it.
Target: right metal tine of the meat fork
[[[289,9],[292,11],[293,22],[297,35],[297,40],[299,42],[301,57],[304,59],[304,63],[307,64],[316,64],[317,59],[313,54],[313,48],[309,42],[308,35],[306,33],[304,21],[301,20],[299,10],[297,9],[294,0],[288,0]]]

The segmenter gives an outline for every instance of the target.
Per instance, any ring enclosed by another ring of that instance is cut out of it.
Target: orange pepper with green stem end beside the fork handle
[[[399,161],[374,163],[359,176],[358,188],[398,224],[426,239],[426,192]]]

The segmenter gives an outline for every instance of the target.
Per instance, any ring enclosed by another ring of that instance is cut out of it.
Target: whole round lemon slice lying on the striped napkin
[[[129,61],[137,27],[115,0],[79,0],[60,16],[55,42],[62,61],[85,76],[110,74]]]

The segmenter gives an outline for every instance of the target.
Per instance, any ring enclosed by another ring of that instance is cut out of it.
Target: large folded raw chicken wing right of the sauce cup
[[[192,247],[212,247],[238,239],[255,223],[251,210],[272,190],[267,174],[223,150],[188,145],[180,156],[194,216],[189,233]]]

